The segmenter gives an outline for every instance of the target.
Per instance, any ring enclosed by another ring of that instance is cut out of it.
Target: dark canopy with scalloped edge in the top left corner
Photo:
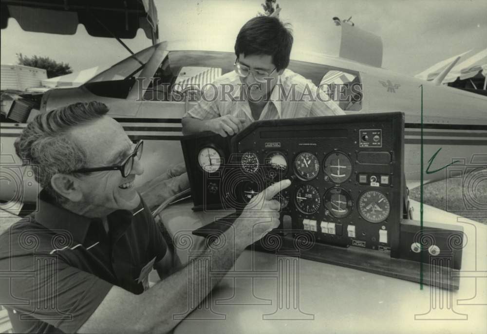
[[[25,31],[74,35],[78,24],[94,37],[134,38],[142,28],[158,41],[157,10],[153,0],[1,0],[0,27],[14,18]]]

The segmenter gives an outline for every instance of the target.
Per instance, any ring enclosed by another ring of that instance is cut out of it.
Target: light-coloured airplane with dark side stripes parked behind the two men
[[[15,1],[2,0],[2,8],[7,6],[10,9],[10,2]],[[137,0],[129,2],[138,3],[140,7]],[[72,10],[76,12],[79,9]],[[10,15],[15,17],[13,13],[11,11]],[[424,182],[450,177],[447,175],[448,166],[459,166],[464,172],[487,167],[487,96],[443,86],[438,80],[424,81],[386,70],[381,67],[380,37],[350,24],[349,20],[334,18],[334,21],[341,29],[339,56],[294,50],[289,69],[316,86],[339,87],[358,83],[360,90],[356,94],[358,99],[354,101],[354,108],[349,109],[350,103],[338,102],[347,114],[404,112],[405,171],[410,188],[419,185],[421,144],[423,169],[426,171],[423,173]],[[36,201],[38,186],[32,173],[19,167],[15,167],[17,174],[11,170],[6,172],[9,164],[16,166],[20,163],[13,150],[13,142],[37,113],[73,102],[97,100],[106,103],[110,107],[110,115],[123,125],[132,140],[144,139],[145,173],[137,179],[137,185],[184,161],[179,142],[182,136],[180,120],[196,102],[194,90],[180,88],[185,84],[204,85],[233,71],[234,40],[224,43],[208,37],[195,41],[158,42],[158,30],[153,26],[156,20],[152,20],[151,24],[146,30],[152,41],[150,47],[96,74],[84,84],[50,89],[41,95],[22,94],[18,107],[22,105],[22,99],[36,103],[31,109],[14,110],[14,105],[2,118],[0,200],[10,203],[21,197],[24,203]],[[5,27],[6,24],[2,23],[2,29]],[[148,25],[141,27],[147,28]],[[118,28],[104,26],[97,31],[119,38],[123,34],[117,31]],[[453,65],[439,76],[447,75]],[[12,115],[22,121],[9,118]],[[455,163],[452,165],[452,162]]]

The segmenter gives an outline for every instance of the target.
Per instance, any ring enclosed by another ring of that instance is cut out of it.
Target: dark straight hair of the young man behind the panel
[[[269,55],[277,71],[289,65],[293,35],[278,18],[259,16],[247,21],[235,41],[235,55]]]

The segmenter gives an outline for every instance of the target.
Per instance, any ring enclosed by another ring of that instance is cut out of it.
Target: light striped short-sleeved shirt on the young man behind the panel
[[[310,80],[286,69],[278,77],[259,120],[345,114],[326,93],[319,91],[317,96],[317,92]],[[248,126],[254,117],[243,96],[240,77],[235,71],[229,72],[206,85],[201,99],[183,118],[207,120],[231,114],[245,119]]]

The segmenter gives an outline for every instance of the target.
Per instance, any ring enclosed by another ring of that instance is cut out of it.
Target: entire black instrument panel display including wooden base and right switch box
[[[281,224],[264,237],[280,238],[282,243],[272,244],[285,251],[299,249],[305,259],[418,282],[418,262],[431,265],[428,273],[437,265],[461,269],[462,228],[423,226],[404,214],[401,112],[257,121],[231,138],[206,132],[185,136],[181,144],[193,210],[236,209],[195,235],[223,232],[254,196],[291,179],[275,196]],[[277,251],[271,243],[264,246],[264,239],[254,246]],[[439,284],[443,278],[426,280]],[[459,280],[451,276],[448,284],[458,289]]]

